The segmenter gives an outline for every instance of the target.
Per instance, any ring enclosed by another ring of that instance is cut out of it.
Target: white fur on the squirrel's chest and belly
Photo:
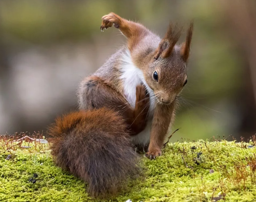
[[[128,50],[123,54],[120,71],[121,71],[120,78],[122,79],[123,86],[124,86],[124,96],[127,102],[129,102],[133,108],[135,108],[135,102],[136,102],[136,86],[139,85],[140,83],[143,83],[149,92],[149,97],[150,97],[150,110],[148,113],[149,121],[147,123],[146,128],[141,133],[133,136],[132,138],[132,141],[136,144],[141,144],[141,145],[147,144],[149,142],[152,117],[153,117],[154,108],[155,108],[154,93],[152,89],[150,89],[147,83],[145,82],[143,72],[133,64],[131,60],[130,52]]]

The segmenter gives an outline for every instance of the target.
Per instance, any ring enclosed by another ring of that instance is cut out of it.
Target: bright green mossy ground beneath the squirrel
[[[169,143],[156,160],[142,157],[144,179],[105,200],[89,197],[82,181],[56,167],[47,144],[12,149],[0,147],[2,202],[256,201],[253,142]]]

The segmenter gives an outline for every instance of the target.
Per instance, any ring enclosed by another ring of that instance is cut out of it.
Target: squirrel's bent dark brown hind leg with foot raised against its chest
[[[86,96],[84,110],[107,107],[113,109],[126,120],[131,135],[136,135],[145,128],[148,112],[148,94],[143,85],[136,87],[136,104],[132,109],[130,104],[115,90],[115,87],[97,76],[88,77],[84,84],[83,95]]]

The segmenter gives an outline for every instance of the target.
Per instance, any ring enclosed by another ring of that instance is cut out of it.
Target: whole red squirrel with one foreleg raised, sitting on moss
[[[78,88],[79,111],[63,115],[49,128],[56,165],[86,181],[92,196],[115,194],[141,174],[134,147],[145,156],[161,155],[175,116],[177,96],[187,83],[193,33],[176,44],[181,28],[169,24],[161,39],[143,25],[111,12],[101,31],[114,25],[127,45],[114,53]]]

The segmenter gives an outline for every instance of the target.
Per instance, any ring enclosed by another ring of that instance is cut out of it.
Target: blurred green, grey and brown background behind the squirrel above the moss
[[[0,134],[44,131],[77,108],[76,89],[125,38],[101,32],[109,12],[163,36],[169,21],[195,29],[186,99],[171,138],[190,140],[256,131],[256,1],[1,0]],[[181,40],[185,38],[184,34]]]

